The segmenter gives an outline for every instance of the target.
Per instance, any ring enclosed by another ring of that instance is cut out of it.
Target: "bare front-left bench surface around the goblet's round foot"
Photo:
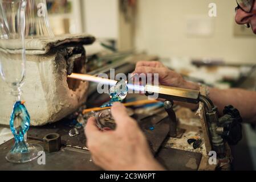
[[[38,140],[29,140],[30,143],[37,143],[43,145],[43,142]],[[46,161],[45,165],[39,165],[38,160],[33,160],[29,163],[23,164],[13,164],[7,162],[5,155],[13,146],[14,140],[11,139],[8,142],[0,146],[0,171],[7,170],[64,170],[64,171],[74,171],[74,170],[83,170],[83,171],[92,171],[100,170],[99,167],[95,166],[91,161],[91,155],[89,151],[80,150],[71,147],[62,147],[59,152],[48,153],[46,152]]]

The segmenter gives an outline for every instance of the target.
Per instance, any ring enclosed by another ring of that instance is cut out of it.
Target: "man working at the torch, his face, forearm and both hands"
[[[235,21],[246,24],[256,34],[255,0],[237,0]],[[159,73],[162,85],[198,90],[200,85],[185,81],[181,75],[170,71],[157,61],[140,61],[135,73]],[[236,107],[245,122],[256,123],[256,92],[242,89],[220,90],[209,88],[208,96],[221,111],[226,105]],[[101,132],[95,125],[95,118],[88,120],[85,133],[92,160],[107,170],[162,170],[163,167],[153,158],[147,140],[120,103],[112,106],[112,114],[117,122],[115,131]]]

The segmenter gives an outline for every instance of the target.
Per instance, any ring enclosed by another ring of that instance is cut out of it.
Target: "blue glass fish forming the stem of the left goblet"
[[[30,115],[25,105],[21,101],[15,102],[10,118],[10,129],[15,139],[11,154],[26,153],[29,151],[24,140],[24,135],[29,130],[29,126]]]

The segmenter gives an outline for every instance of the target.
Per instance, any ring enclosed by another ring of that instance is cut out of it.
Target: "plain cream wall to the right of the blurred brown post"
[[[208,5],[211,2],[217,4],[216,18],[208,16]],[[234,35],[236,6],[235,0],[139,0],[136,48],[163,57],[213,57],[225,61],[256,61],[256,36]],[[193,22],[200,23],[200,19],[203,27],[207,19],[212,21],[210,34],[190,35],[189,27],[193,27]]]

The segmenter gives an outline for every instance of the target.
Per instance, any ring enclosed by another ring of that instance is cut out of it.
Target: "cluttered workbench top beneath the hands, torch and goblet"
[[[137,60],[141,60],[141,57],[137,57]],[[119,65],[116,73],[129,73],[134,70],[134,66],[131,63],[123,66]],[[93,87],[91,86],[91,88]],[[109,98],[107,94],[99,95],[93,90],[91,93],[94,94],[88,97],[87,107],[94,107],[99,97]],[[128,94],[127,100],[131,97],[135,96]],[[147,99],[147,97],[138,96],[138,94],[136,97],[140,97],[138,100]],[[196,116],[196,113],[183,107],[176,107],[175,111],[178,118],[178,136],[177,138],[171,138],[168,136],[168,114],[163,106],[159,113],[150,117],[148,116],[152,111],[147,110],[144,113],[139,113],[139,109],[135,109],[136,114],[133,117],[138,121],[148,139],[152,154],[168,170],[215,170],[216,166],[208,165],[204,139],[202,146],[196,150],[187,142],[190,138],[203,138],[200,118]],[[2,164],[0,170],[99,170],[100,168],[92,162],[90,151],[86,147],[83,128],[79,129],[79,135],[75,137],[68,135],[70,129],[74,127],[70,125],[70,122],[72,121],[64,118],[50,125],[30,127],[27,134],[29,143],[38,143],[43,146],[43,137],[49,133],[58,133],[62,138],[60,151],[46,152],[45,165],[39,165],[37,160],[25,164],[7,162],[5,155],[14,144],[14,139],[11,139],[0,145],[0,163]],[[153,130],[150,129],[152,126]]]

